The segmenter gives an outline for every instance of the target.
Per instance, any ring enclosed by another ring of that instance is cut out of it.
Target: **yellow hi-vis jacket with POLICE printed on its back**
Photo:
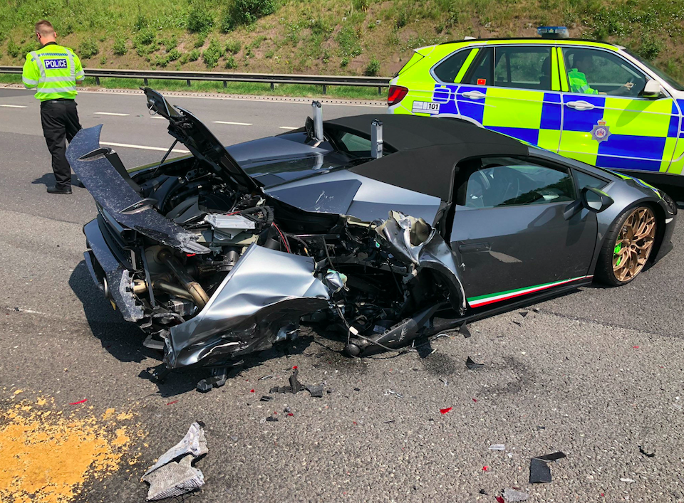
[[[26,55],[21,80],[26,88],[38,88],[36,98],[41,101],[76,97],[76,83],[85,78],[81,60],[67,47],[48,42]]]

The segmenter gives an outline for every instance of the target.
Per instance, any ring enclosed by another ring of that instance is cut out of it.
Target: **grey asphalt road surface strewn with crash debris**
[[[209,124],[226,143],[299,127],[311,110],[170,101],[207,123],[242,123]],[[103,142],[135,146],[115,147],[129,167],[163,154],[140,147],[171,143],[144,105],[141,95],[78,97],[84,127],[104,123]],[[384,110],[323,105],[325,117],[366,112]],[[140,430],[122,467],[88,478],[73,501],[144,501],[142,473],[201,420],[206,484],[188,502],[494,502],[506,487],[531,502],[684,502],[681,225],[673,252],[626,287],[583,288],[472,324],[470,339],[452,333],[399,355],[348,359],[336,339],[304,334],[203,394],[202,373],[162,384],[145,376],[159,355],[90,280],[81,232],[95,215],[88,193],[46,194],[53,176],[38,104],[25,91],[0,90],[0,152],[0,405],[13,406],[22,390],[51,397],[63,415],[132,411]],[[467,356],[484,368],[467,369]],[[292,366],[332,392],[259,401],[286,384]],[[273,412],[280,420],[264,422]],[[551,463],[553,481],[530,485],[530,457],[559,450],[567,457]]]

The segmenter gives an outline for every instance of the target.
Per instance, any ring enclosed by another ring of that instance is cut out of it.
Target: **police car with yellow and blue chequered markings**
[[[415,50],[390,113],[459,117],[668,189],[684,177],[684,85],[626,48],[564,38],[465,39]]]

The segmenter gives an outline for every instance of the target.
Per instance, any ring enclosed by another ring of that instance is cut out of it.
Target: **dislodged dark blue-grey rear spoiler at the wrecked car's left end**
[[[185,231],[152,207],[105,157],[111,149],[100,149],[102,125],[81,129],[66,151],[71,168],[88,192],[122,226],[186,253],[208,253],[197,243],[197,235]],[[132,209],[133,208],[133,209]]]

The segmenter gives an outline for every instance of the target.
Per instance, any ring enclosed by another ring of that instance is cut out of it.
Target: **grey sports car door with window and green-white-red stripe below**
[[[460,166],[452,250],[471,307],[584,280],[596,243],[596,215],[576,200],[564,166],[484,157]]]

